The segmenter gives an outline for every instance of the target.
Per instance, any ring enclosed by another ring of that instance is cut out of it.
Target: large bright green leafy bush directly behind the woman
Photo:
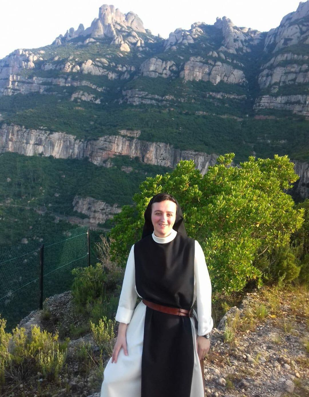
[[[231,167],[234,154],[219,156],[203,176],[194,162],[180,161],[173,172],[147,178],[134,195],[135,205],[124,206],[114,218],[112,250],[125,264],[131,245],[140,239],[144,210],[150,198],[166,191],[175,195],[184,212],[186,230],[202,245],[214,290],[241,290],[249,280],[260,280],[258,255],[289,243],[303,222],[284,193],[297,180],[287,156],[249,157]]]

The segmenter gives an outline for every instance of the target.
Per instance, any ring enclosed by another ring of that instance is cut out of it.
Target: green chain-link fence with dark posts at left
[[[88,252],[86,227],[1,251],[0,314],[7,329],[39,308],[42,299],[71,289],[71,270],[88,265]]]

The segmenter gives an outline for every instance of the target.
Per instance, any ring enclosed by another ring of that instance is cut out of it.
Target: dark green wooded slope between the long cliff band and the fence
[[[131,166],[134,172],[123,172],[123,166]],[[109,204],[129,204],[146,173],[154,176],[168,170],[143,164],[138,159],[131,160],[128,156],[115,158],[114,166],[106,168],[87,159],[63,160],[17,153],[2,154],[0,168],[0,204],[4,204],[0,206],[3,212],[0,246],[6,247],[16,245],[23,237],[28,240],[50,238],[75,227],[66,221],[66,217],[85,217],[73,211],[75,195],[93,197]],[[55,216],[59,217],[57,223]],[[94,235],[92,232],[92,243]]]

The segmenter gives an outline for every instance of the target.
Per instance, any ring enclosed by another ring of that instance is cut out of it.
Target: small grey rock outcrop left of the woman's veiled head
[[[119,214],[121,208],[118,204],[107,204],[104,201],[92,197],[75,196],[73,199],[73,210],[87,215],[90,223],[104,224],[107,219],[113,219],[113,215]]]

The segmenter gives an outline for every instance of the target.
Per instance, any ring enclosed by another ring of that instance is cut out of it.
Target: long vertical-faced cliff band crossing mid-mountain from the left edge
[[[215,154],[180,150],[162,142],[147,142],[121,135],[109,135],[97,140],[84,141],[62,132],[25,129],[18,125],[2,125],[0,129],[0,153],[16,152],[26,156],[41,154],[54,158],[88,157],[89,161],[102,166],[117,155],[138,157],[146,164],[174,168],[180,160],[194,160],[196,167],[207,172],[215,164]]]

